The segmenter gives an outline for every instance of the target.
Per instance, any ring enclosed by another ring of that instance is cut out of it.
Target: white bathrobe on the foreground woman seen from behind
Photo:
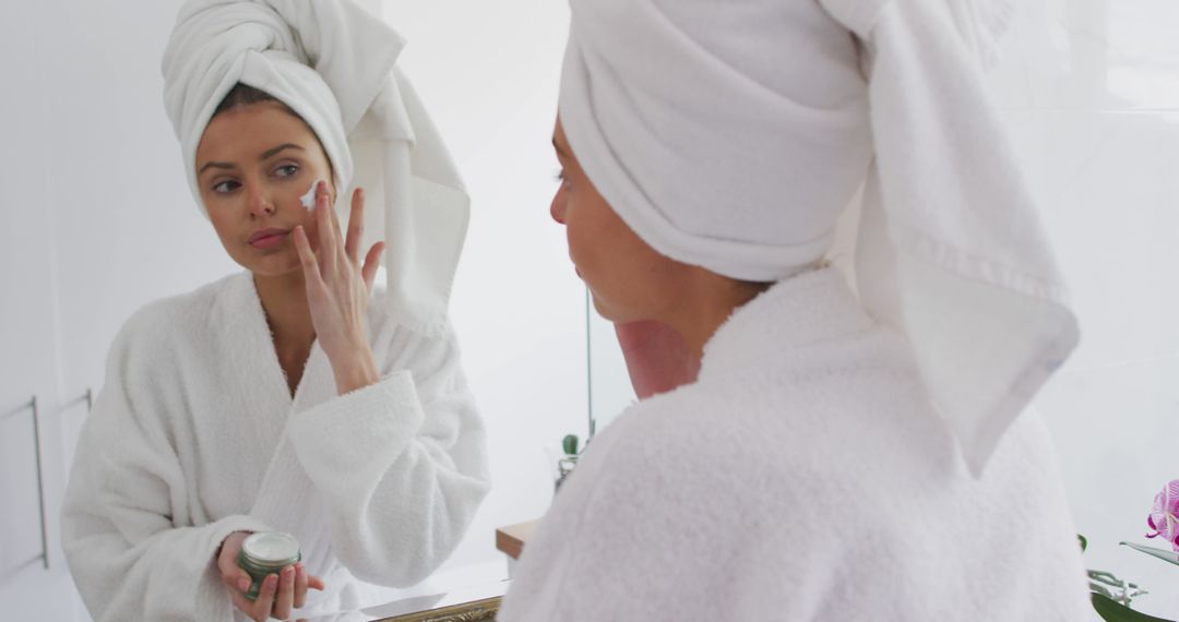
[[[839,272],[778,283],[593,441],[499,620],[1089,620],[1043,424],[975,479],[928,403]]]

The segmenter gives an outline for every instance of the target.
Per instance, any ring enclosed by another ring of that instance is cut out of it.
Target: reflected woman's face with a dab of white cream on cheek
[[[299,270],[291,232],[302,225],[318,240],[302,197],[331,167],[308,125],[277,101],[230,108],[213,117],[197,147],[197,183],[217,236],[235,262],[275,277]]]

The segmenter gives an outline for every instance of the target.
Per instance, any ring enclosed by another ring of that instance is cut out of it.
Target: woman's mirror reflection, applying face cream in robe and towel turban
[[[198,205],[245,272],[149,305],[111,349],[62,525],[95,620],[355,608],[368,584],[432,573],[486,495],[446,318],[466,198],[393,73],[401,45],[347,2],[182,9],[165,104]],[[350,183],[345,231],[332,205]],[[367,245],[373,204],[388,227]],[[428,254],[419,211],[434,212]],[[374,291],[386,243],[393,286]],[[302,562],[251,601],[237,554],[271,530],[298,538]]]

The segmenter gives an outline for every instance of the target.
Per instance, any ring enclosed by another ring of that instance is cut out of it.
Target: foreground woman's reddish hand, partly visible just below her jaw
[[[671,326],[656,320],[615,324],[626,370],[639,399],[696,382],[700,360]]]

